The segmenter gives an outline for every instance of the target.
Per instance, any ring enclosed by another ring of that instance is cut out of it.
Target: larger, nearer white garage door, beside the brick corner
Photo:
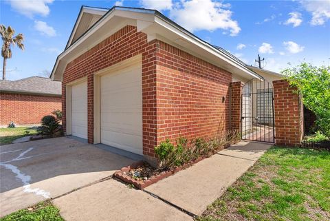
[[[101,143],[142,155],[142,66],[100,78]]]

